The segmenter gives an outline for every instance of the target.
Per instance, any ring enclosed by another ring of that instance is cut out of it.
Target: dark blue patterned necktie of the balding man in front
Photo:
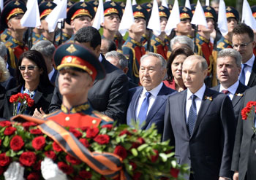
[[[197,120],[197,106],[195,104],[195,98],[197,98],[196,95],[191,95],[192,104],[189,109],[189,117],[187,118],[187,126],[189,128],[189,135],[192,135],[195,121]]]

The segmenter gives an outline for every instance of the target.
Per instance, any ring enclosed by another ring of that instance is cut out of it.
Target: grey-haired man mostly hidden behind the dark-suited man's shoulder
[[[129,70],[128,60],[122,53],[113,50],[113,51],[107,52],[105,54],[105,58],[110,63],[112,63],[113,66],[116,66],[118,69],[121,69],[124,72],[124,74],[127,74]],[[132,79],[128,77],[128,87],[129,89],[131,89],[132,87],[138,87],[138,85],[132,82]]]

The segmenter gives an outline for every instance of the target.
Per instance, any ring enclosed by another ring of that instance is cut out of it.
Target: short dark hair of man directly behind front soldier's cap
[[[102,37],[99,31],[91,26],[80,28],[75,34],[75,42],[90,42],[90,46],[95,50],[101,44]]]

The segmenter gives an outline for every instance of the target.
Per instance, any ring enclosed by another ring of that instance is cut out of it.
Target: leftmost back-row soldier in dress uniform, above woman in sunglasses
[[[28,50],[28,47],[23,43],[23,34],[26,27],[21,26],[20,19],[26,12],[26,5],[21,1],[10,1],[1,12],[1,24],[8,27],[10,37],[5,42],[8,50],[7,63],[13,68],[16,68],[20,55]]]

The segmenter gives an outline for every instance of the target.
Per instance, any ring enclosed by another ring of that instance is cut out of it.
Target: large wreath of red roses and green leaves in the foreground
[[[168,142],[160,142],[157,130],[135,130],[127,125],[99,128],[66,127],[91,152],[110,152],[121,157],[132,179],[182,179],[187,165],[178,165]],[[10,163],[25,168],[24,178],[42,179],[40,163],[52,159],[69,179],[109,179],[86,163],[72,157],[39,130],[34,122],[0,122],[0,179]],[[119,178],[116,178],[119,179]]]

